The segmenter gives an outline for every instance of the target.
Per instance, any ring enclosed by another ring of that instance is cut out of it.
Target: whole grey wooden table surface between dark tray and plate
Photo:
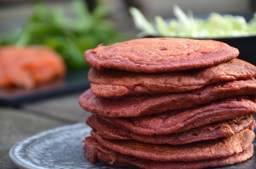
[[[78,105],[80,94],[82,92],[20,108],[0,106],[0,169],[17,169],[8,158],[15,143],[44,130],[84,121],[90,113]]]

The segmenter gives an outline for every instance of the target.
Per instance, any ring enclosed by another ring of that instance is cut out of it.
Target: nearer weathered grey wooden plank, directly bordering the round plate
[[[18,141],[51,128],[71,124],[26,110],[0,107],[0,169],[16,169],[8,159],[10,147]]]

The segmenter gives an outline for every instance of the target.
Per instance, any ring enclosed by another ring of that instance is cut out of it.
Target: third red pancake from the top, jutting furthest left
[[[217,83],[182,93],[129,96],[122,99],[98,97],[88,89],[80,96],[79,104],[84,110],[102,116],[138,117],[250,94],[256,94],[255,79]]]

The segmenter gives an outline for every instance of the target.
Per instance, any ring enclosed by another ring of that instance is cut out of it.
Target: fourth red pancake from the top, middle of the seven
[[[137,134],[153,136],[188,131],[214,122],[250,116],[256,112],[255,98],[226,98],[194,108],[172,110],[135,118],[99,116],[120,128]]]

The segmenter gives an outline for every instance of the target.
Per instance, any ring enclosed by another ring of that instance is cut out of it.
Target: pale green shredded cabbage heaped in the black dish
[[[155,16],[154,23],[148,22],[136,8],[130,8],[139,37],[147,35],[162,37],[220,38],[256,35],[256,13],[250,22],[243,16],[220,15],[211,13],[207,19],[193,16],[192,11],[183,12],[177,5],[173,6],[176,19],[164,20]]]

